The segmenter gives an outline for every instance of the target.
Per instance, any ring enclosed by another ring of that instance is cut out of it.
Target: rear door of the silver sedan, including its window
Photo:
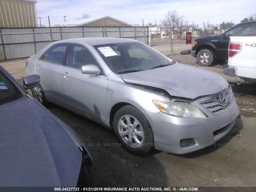
[[[50,47],[36,62],[36,74],[41,77],[41,85],[46,98],[64,103],[61,86],[61,72],[67,43]]]

